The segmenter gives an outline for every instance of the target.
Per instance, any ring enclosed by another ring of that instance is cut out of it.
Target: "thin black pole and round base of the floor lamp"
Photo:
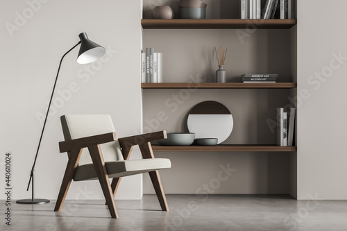
[[[76,46],[78,46],[78,44],[81,44],[81,41],[78,42],[71,49],[69,49],[69,51],[67,51],[67,53],[72,51]],[[44,133],[44,127],[46,126],[46,121],[47,121],[47,117],[48,117],[48,114],[49,114],[49,109],[51,108],[51,103],[52,103],[52,99],[53,99],[54,90],[56,89],[56,84],[57,84],[57,80],[58,80],[58,76],[59,76],[60,67],[62,65],[62,60],[64,59],[65,55],[67,55],[67,53],[62,55],[62,59],[60,60],[60,63],[59,63],[58,72],[57,72],[57,76],[56,76],[56,81],[54,82],[53,91],[52,91],[52,94],[51,94],[51,99],[49,100],[49,105],[48,105],[48,109],[47,109],[47,113],[46,113],[46,118],[44,119],[44,125],[43,125],[43,128],[42,128],[39,145],[37,146],[37,151],[36,151],[36,155],[35,155],[34,164],[33,164],[33,167],[31,168],[31,173],[30,173],[30,179],[29,179],[29,182],[28,182],[28,187],[26,188],[26,191],[28,191],[29,187],[30,187],[30,183],[31,183],[31,199],[17,200],[16,203],[18,203],[18,204],[45,204],[45,203],[49,203],[49,200],[47,200],[47,199],[37,199],[37,198],[35,199],[35,197],[34,197],[34,171],[35,171],[35,164],[36,164],[36,160],[37,160],[37,154],[39,153],[40,144],[41,144],[42,136],[43,136],[43,133]]]

